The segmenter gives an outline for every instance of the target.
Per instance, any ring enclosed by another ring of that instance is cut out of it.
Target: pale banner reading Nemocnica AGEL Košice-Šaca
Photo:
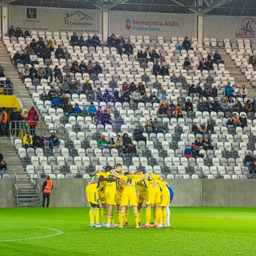
[[[188,36],[191,38],[196,34],[196,16],[112,11],[109,12],[109,33],[124,36]]]

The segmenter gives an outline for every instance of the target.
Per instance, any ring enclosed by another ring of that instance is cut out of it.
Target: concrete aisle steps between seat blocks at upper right
[[[225,69],[229,71],[231,77],[235,78],[236,84],[239,84],[240,87],[242,84],[245,85],[248,91],[248,98],[253,100],[256,98],[256,91],[250,84],[250,81],[246,80],[244,74],[241,73],[240,68],[236,67],[236,63],[234,60],[231,60],[229,54],[226,53],[225,49],[218,49],[222,60],[225,61]]]

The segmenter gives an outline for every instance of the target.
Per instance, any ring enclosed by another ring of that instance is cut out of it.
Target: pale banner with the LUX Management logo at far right
[[[256,17],[204,16],[204,37],[216,39],[255,38]]]

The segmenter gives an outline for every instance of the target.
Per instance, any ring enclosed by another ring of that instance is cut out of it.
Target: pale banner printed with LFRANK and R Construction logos
[[[9,6],[9,26],[25,30],[101,33],[99,11]]]

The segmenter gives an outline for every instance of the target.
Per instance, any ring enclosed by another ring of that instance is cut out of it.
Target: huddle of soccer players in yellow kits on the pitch
[[[128,224],[128,205],[132,206],[136,228],[160,228],[170,226],[169,204],[173,190],[160,175],[143,174],[142,171],[122,174],[122,164],[116,164],[115,170],[107,166],[90,174],[92,181],[86,187],[87,199],[91,205],[90,226],[100,228],[123,228]],[[138,195],[137,191],[138,190]],[[146,203],[146,223],[141,225],[141,207]],[[101,218],[100,224],[100,205]],[[107,223],[106,206],[108,204]],[[153,224],[150,225],[151,206],[154,204]],[[116,206],[117,226],[114,222],[113,209]]]

